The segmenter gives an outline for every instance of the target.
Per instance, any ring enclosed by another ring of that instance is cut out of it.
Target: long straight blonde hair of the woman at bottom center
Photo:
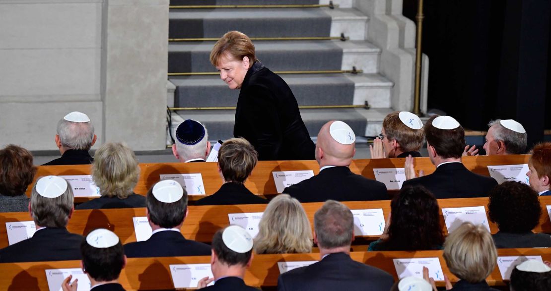
[[[255,238],[257,254],[299,254],[312,251],[312,228],[300,202],[279,194],[269,202]]]

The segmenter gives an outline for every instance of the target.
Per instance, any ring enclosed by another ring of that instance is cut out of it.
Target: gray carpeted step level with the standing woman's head
[[[169,73],[216,72],[209,59],[213,46],[170,43]],[[273,71],[341,69],[343,49],[333,41],[256,41],[255,47],[257,58]]]

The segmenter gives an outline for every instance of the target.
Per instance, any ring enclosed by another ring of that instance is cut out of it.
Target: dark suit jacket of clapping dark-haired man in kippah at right
[[[406,180],[402,188],[410,185],[423,185],[436,199],[488,197],[488,193],[498,182],[469,171],[462,163],[442,164],[430,175]]]

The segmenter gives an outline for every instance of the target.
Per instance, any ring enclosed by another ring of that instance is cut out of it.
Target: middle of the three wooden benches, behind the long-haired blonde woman
[[[540,197],[542,205],[542,216],[540,223],[534,229],[536,232],[551,233],[551,221],[547,214],[546,205],[551,205],[551,197]],[[385,218],[390,213],[390,201],[350,201],[343,202],[350,209],[373,209],[382,208]],[[484,206],[487,208],[488,198],[463,198],[463,199],[440,199],[438,200],[441,208],[450,207],[469,207]],[[314,213],[323,203],[304,203],[302,206],[306,211],[308,219],[314,228]],[[228,226],[228,213],[249,213],[264,212],[266,205],[217,205],[217,206],[189,206],[189,214],[186,217],[182,234],[187,239],[203,241],[210,243],[214,233],[225,226]],[[447,234],[444,217],[440,211],[440,221],[442,229]],[[105,209],[105,210],[77,210],[69,220],[68,230],[72,233],[82,235],[88,234],[90,230],[96,228],[107,228],[115,232],[120,237],[122,243],[131,243],[136,241],[134,224],[132,217],[145,216],[145,208],[123,208],[123,209]],[[0,213],[0,248],[8,246],[6,222],[31,221],[27,212],[8,212]],[[489,222],[491,233],[496,233],[498,227]],[[376,240],[379,236],[356,237],[356,244],[366,244],[367,241]]]

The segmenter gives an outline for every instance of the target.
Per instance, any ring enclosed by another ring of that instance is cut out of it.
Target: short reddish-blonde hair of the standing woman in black
[[[228,53],[236,60],[249,58],[250,65],[256,62],[255,45],[252,44],[249,36],[239,31],[229,31],[214,44],[210,51],[210,63],[216,67],[223,54]]]

